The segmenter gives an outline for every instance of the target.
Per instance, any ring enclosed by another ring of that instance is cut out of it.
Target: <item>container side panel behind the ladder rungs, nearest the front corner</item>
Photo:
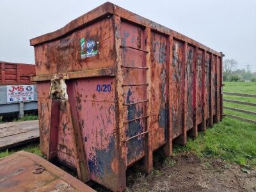
[[[125,102],[124,129],[127,139],[146,131],[146,118],[142,117],[147,115],[146,109],[148,102],[141,101],[147,100],[148,98],[147,85],[139,85],[147,83],[146,69],[136,68],[145,67],[146,65],[146,53],[136,50],[145,50],[144,33],[144,29],[139,26],[135,26],[125,21],[121,22],[122,46],[124,46],[122,48],[122,65],[129,67],[122,68]],[[144,138],[145,136],[141,134],[140,136],[136,136],[127,141],[127,165],[134,163],[144,156]]]

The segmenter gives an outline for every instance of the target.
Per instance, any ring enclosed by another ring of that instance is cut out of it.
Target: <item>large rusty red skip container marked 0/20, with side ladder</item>
[[[84,182],[123,191],[128,166],[222,118],[223,54],[115,4],[30,43],[42,153]]]

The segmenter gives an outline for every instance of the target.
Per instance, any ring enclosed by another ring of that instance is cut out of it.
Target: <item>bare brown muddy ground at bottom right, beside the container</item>
[[[221,160],[181,154],[156,159],[154,168],[148,175],[129,168],[126,191],[256,191],[255,169]],[[93,188],[107,191],[100,186]]]

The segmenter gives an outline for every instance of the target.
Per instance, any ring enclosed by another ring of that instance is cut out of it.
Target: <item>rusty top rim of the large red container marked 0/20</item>
[[[30,40],[30,45],[36,46],[36,45],[44,44],[45,42],[51,42],[53,40],[57,40],[58,38],[61,38],[62,36],[66,36],[76,31],[77,29],[82,28],[83,26],[86,26],[86,24],[90,24],[94,20],[98,20],[107,15],[117,15],[121,19],[129,20],[141,26],[149,27],[152,30],[159,31],[159,33],[164,33],[166,35],[173,36],[173,38],[177,40],[182,40],[183,42],[187,42],[188,44],[194,45],[199,49],[204,49],[207,52],[212,52],[217,56],[220,56],[220,57],[223,56],[221,52],[214,51],[213,49],[197,42],[196,40],[193,40],[192,38],[189,38],[188,36],[182,35],[177,31],[174,31],[170,28],[166,28],[161,24],[157,24],[152,20],[146,19],[145,17],[141,17],[136,13],[132,13],[129,10],[125,10],[124,8],[121,8],[120,6],[117,6],[116,4],[113,4],[110,2],[101,4],[97,8],[94,8],[93,10],[91,10],[90,12],[85,13],[84,15],[81,15],[77,19],[74,19],[71,22],[69,22],[63,28],[60,28],[51,33],[47,33],[45,35],[38,36],[36,38],[32,38]]]

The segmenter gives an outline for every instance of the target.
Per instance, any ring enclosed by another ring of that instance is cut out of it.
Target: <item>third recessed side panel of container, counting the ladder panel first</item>
[[[173,40],[173,58],[172,58],[172,78],[173,84],[172,92],[170,96],[173,100],[173,106],[170,106],[172,109],[172,118],[173,118],[173,138],[176,138],[182,133],[182,60],[183,60],[183,43],[178,40]]]

